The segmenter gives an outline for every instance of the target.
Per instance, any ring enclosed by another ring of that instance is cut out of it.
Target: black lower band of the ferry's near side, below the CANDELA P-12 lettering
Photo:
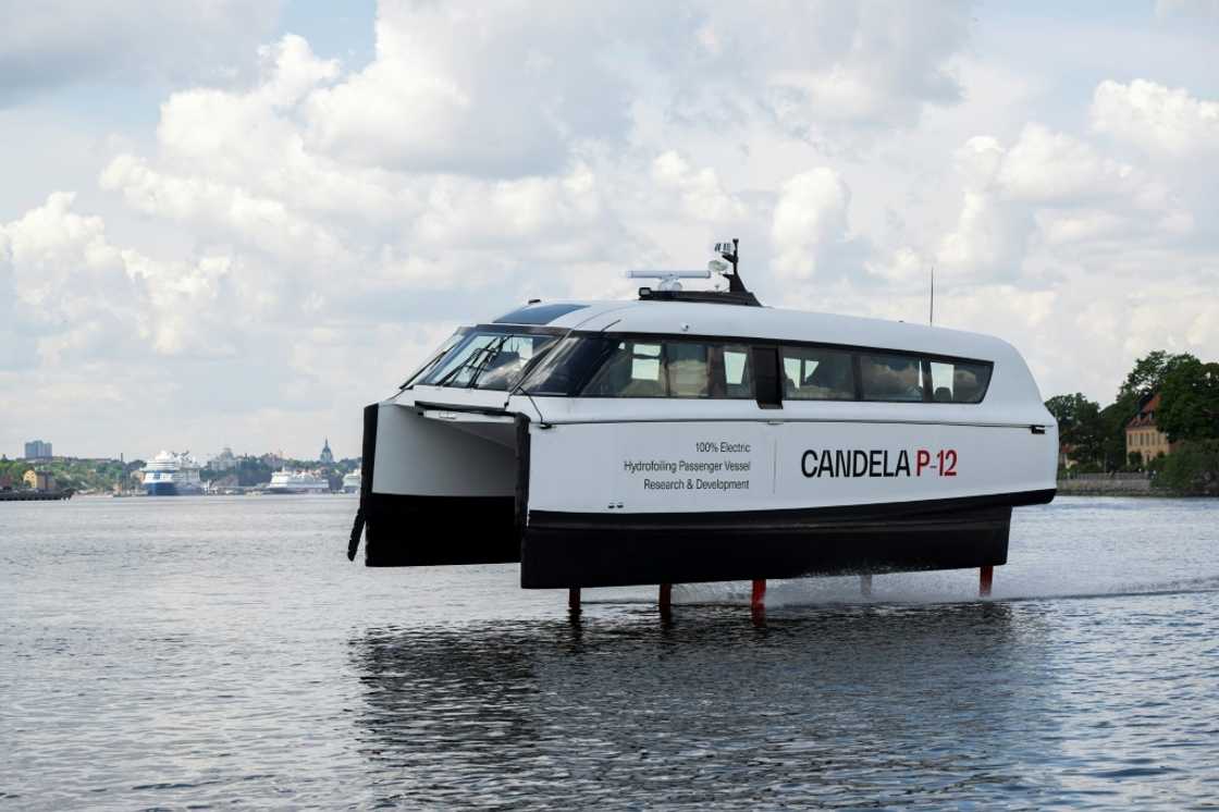
[[[1013,505],[1048,502],[1053,494],[741,513],[531,511],[521,585],[625,586],[997,566],[1007,562]]]

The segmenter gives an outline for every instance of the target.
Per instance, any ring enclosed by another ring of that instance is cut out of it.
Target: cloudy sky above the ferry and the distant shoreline
[[[360,450],[463,323],[741,238],[1107,404],[1219,358],[1219,0],[0,0],[0,452]],[[822,337],[818,337],[822,338]]]

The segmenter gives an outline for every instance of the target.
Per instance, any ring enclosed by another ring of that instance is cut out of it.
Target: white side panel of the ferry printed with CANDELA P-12
[[[857,422],[649,422],[530,430],[529,505],[768,511],[1054,488],[1053,432]],[[1009,461],[996,465],[996,461]]]

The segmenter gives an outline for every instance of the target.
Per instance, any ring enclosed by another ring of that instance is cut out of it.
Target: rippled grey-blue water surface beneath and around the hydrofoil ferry
[[[523,591],[355,499],[0,505],[0,807],[1214,806],[1219,502],[1018,510],[976,573]]]

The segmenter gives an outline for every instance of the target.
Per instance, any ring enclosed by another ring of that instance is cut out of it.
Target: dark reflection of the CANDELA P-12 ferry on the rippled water
[[[993,801],[1029,746],[1024,716],[1052,701],[1035,612],[1019,629],[993,604],[759,628],[735,610],[679,614],[358,635],[356,719],[382,799]]]

